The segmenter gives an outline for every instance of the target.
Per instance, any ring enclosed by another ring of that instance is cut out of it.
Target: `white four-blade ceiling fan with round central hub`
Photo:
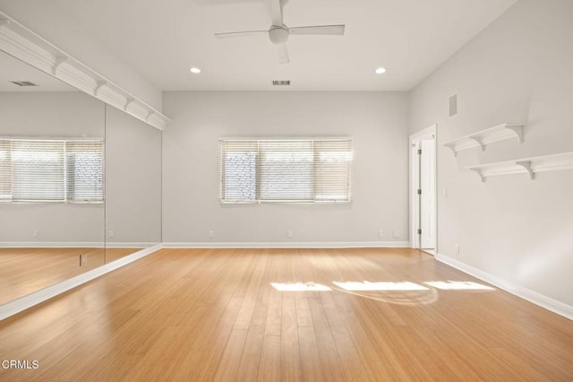
[[[246,30],[227,33],[215,33],[218,39],[229,39],[235,37],[248,37],[267,33],[270,42],[277,46],[278,63],[287,64],[288,50],[286,40],[290,35],[343,35],[344,25],[316,25],[307,27],[288,28],[283,22],[283,6],[288,0],[268,0],[270,4],[270,15],[272,25],[269,30]]]

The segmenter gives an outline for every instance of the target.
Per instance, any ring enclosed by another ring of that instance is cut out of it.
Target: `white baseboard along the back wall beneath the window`
[[[286,241],[163,243],[164,248],[387,248],[409,247],[407,241]]]

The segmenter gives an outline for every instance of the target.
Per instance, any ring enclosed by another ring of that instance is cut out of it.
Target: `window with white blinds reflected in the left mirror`
[[[102,202],[101,140],[0,138],[0,201]]]

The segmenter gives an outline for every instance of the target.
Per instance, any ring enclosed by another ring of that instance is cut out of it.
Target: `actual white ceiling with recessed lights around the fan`
[[[21,0],[26,1],[26,0]],[[278,65],[266,36],[271,0],[51,0],[78,26],[165,91],[407,91],[516,0],[290,0],[289,27],[346,24],[344,36],[291,36]],[[201,67],[193,75],[191,66]],[[374,69],[384,66],[386,74]],[[276,88],[275,88],[276,89]]]

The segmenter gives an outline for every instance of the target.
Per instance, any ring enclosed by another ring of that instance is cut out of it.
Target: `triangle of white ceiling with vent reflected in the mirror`
[[[77,91],[49,74],[13,56],[0,52],[0,91]],[[19,86],[13,81],[28,81],[37,86]]]

